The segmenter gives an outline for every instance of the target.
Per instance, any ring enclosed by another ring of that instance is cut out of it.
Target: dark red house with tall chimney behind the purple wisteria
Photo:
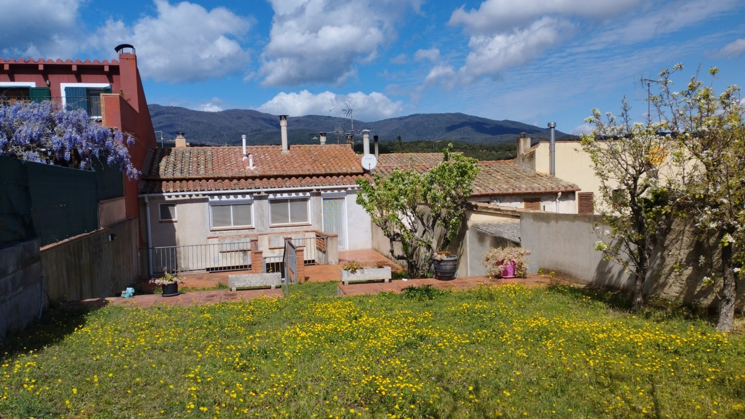
[[[118,60],[33,60],[0,58],[3,101],[51,100],[64,109],[83,109],[105,127],[130,133],[133,166],[142,170],[148,148],[156,147],[145,91],[132,45],[118,45]],[[137,180],[124,178],[124,197],[102,201],[99,227],[139,217]]]

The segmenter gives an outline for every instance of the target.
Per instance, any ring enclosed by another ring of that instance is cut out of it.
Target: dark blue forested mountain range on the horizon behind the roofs
[[[250,145],[279,145],[279,116],[256,110],[231,109],[220,112],[190,110],[184,107],[148,105],[156,138],[162,132],[164,142],[173,142],[177,132],[186,133],[192,145],[239,145],[241,135],[247,136]],[[335,116],[288,117],[288,142],[311,144],[318,142],[318,133],[325,131],[328,143],[335,144],[335,129],[349,132],[350,119]],[[468,143],[502,144],[514,142],[520,133],[533,139],[548,139],[548,128],[522,122],[481,118],[465,113],[416,113],[375,122],[354,121],[355,137],[360,130],[371,130],[381,142],[408,141],[458,141]],[[567,134],[557,130],[557,139]],[[341,134],[340,142],[345,142]]]

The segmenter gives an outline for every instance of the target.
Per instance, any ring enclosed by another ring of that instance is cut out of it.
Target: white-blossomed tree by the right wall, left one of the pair
[[[660,133],[664,124],[632,122],[625,98],[622,103],[620,119],[612,113],[603,119],[599,110],[592,110],[586,122],[595,129],[583,136],[582,148],[600,180],[597,211],[611,228],[605,235],[608,241],[597,242],[595,248],[633,274],[632,310],[638,311],[644,303],[644,281],[656,235],[668,213],[660,173],[666,171],[665,160],[674,143],[670,135]]]

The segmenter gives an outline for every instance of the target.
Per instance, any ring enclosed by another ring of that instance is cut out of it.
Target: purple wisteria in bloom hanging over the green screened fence
[[[66,111],[51,101],[0,105],[0,156],[89,168],[92,156],[139,175],[130,161],[128,134],[92,123],[84,110]]]

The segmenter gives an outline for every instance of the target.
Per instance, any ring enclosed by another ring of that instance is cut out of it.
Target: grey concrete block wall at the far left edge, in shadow
[[[43,303],[39,241],[0,250],[0,341],[34,321]]]

